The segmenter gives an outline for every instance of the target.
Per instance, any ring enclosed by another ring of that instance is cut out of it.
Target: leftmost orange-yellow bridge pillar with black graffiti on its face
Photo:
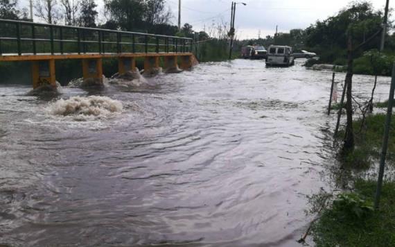
[[[33,89],[42,85],[51,85],[56,88],[55,60],[33,61]]]

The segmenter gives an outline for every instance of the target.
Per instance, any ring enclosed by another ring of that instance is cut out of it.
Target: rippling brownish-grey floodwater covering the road
[[[144,90],[108,87],[91,94],[115,110],[89,116],[2,85],[0,245],[300,246],[335,124],[331,73],[301,62],[207,63]],[[355,82],[369,96],[373,79]],[[389,78],[379,84],[386,99]]]

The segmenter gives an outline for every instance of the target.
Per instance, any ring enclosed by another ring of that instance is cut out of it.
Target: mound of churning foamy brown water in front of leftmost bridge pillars
[[[47,108],[48,113],[53,116],[71,117],[77,121],[112,117],[122,110],[123,105],[120,101],[106,96],[73,96],[51,103]]]

